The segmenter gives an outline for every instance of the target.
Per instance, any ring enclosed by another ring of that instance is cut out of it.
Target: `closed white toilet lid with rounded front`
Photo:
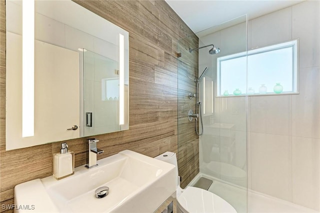
[[[188,186],[177,197],[177,205],[183,212],[228,212],[236,213],[236,210],[218,195],[202,188]]]

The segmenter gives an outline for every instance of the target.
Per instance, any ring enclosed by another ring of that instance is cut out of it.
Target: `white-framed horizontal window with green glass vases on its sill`
[[[297,40],[218,57],[217,96],[296,93],[296,69]]]

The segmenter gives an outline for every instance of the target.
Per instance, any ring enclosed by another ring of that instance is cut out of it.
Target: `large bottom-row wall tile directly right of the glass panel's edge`
[[[251,132],[251,188],[291,201],[291,137]]]

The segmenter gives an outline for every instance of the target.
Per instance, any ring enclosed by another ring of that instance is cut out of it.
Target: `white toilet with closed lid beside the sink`
[[[178,213],[213,213],[228,212],[236,213],[236,210],[224,199],[218,195],[193,186],[187,186],[185,189],[180,188],[176,154],[166,151],[155,159],[159,159],[175,165],[176,171],[176,211]]]

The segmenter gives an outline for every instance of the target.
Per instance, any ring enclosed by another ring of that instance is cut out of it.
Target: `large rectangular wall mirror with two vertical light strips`
[[[128,129],[128,42],[71,0],[6,0],[6,150]]]

